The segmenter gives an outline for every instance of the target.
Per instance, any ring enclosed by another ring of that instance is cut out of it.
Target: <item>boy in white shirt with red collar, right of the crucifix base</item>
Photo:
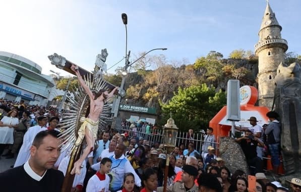
[[[100,170],[89,179],[86,191],[107,192],[110,184],[110,178],[107,173],[110,171],[111,166],[112,161],[109,158],[103,158],[100,162]]]

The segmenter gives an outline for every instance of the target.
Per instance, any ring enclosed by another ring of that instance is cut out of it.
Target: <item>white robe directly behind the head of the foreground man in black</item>
[[[29,150],[30,150],[30,147],[32,146],[32,141],[33,141],[35,135],[37,135],[38,132],[44,131],[44,130],[47,130],[47,128],[41,127],[40,125],[29,127],[28,131],[26,131],[26,133],[24,134],[23,144],[20,148],[20,151],[19,151],[19,154],[16,159],[14,167],[23,165],[29,159],[29,156],[30,156]]]

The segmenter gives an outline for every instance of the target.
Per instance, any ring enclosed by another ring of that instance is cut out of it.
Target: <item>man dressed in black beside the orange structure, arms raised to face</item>
[[[255,167],[255,172],[251,169],[251,174],[255,175],[256,173],[262,172],[262,160],[257,157],[256,147],[263,147],[264,143],[257,137],[254,137],[251,130],[246,130],[245,136],[237,138],[236,142],[238,142],[240,147],[242,147],[249,167]]]

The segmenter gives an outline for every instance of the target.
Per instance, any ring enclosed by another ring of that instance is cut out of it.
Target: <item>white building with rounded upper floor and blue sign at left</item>
[[[0,51],[0,98],[45,106],[54,81],[41,71],[41,66],[24,57]]]

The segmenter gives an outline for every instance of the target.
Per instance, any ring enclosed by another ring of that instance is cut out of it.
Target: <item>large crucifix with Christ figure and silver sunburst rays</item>
[[[106,49],[101,53],[97,56],[93,73],[57,54],[48,56],[51,64],[57,68],[75,74],[80,84],[73,91],[74,98],[68,97],[70,108],[61,114],[63,120],[59,122],[63,129],[59,137],[62,151],[67,150],[67,154],[70,154],[63,192],[71,191],[74,173],[80,173],[83,161],[94,148],[99,127],[105,126],[104,119],[111,117],[111,107],[106,100],[113,96],[118,87],[102,79],[101,74],[108,54]]]

